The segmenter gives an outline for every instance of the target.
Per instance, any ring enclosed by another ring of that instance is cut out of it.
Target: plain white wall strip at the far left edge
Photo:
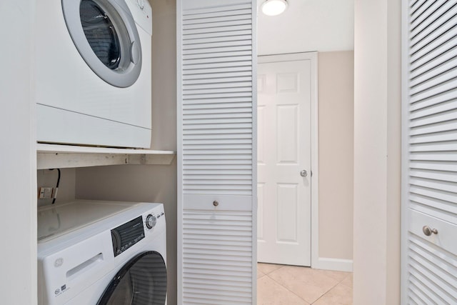
[[[0,1],[1,304],[36,304],[34,0]]]

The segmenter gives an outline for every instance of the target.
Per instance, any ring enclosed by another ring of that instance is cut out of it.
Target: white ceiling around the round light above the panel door
[[[288,0],[279,16],[258,9],[257,30],[259,55],[353,50],[354,0]]]

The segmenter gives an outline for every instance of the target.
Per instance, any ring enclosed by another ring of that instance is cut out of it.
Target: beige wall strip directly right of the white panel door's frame
[[[319,257],[353,257],[354,53],[318,53]],[[346,269],[347,270],[347,269]]]

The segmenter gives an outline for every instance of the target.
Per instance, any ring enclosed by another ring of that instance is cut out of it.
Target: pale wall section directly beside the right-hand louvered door
[[[400,302],[400,4],[355,2],[355,305]]]

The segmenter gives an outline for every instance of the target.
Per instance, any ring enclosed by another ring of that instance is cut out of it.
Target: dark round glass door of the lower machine
[[[114,276],[97,305],[164,305],[166,266],[156,251],[131,259]]]

